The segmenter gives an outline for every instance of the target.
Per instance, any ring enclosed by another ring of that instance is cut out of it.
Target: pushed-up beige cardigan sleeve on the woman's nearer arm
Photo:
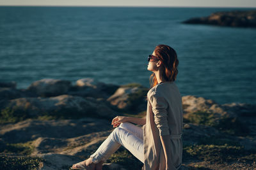
[[[156,123],[157,129],[159,129],[159,135],[170,134],[169,125],[167,120],[167,108],[168,103],[164,97],[153,94],[150,96],[150,102],[152,105],[152,111],[154,113],[154,121]]]

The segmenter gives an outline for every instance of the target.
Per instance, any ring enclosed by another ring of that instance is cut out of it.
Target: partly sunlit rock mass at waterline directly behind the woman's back
[[[183,96],[184,121],[212,125],[239,136],[256,136],[256,106],[253,104],[217,104],[210,99]]]

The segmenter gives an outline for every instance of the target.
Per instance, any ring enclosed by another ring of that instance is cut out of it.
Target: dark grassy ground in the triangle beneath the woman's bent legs
[[[120,164],[126,169],[141,169],[143,166],[143,163],[123,146],[113,153],[106,162]]]

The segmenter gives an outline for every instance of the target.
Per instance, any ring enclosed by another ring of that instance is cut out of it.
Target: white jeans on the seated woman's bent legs
[[[143,130],[129,122],[116,127],[97,151],[90,155],[93,163],[107,160],[121,145],[144,164]]]

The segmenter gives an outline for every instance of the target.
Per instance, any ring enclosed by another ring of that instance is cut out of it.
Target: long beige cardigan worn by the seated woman
[[[165,157],[160,136],[170,134],[173,167],[182,162],[182,100],[174,81],[158,84],[147,93],[147,121],[143,125],[144,170],[165,170]]]

